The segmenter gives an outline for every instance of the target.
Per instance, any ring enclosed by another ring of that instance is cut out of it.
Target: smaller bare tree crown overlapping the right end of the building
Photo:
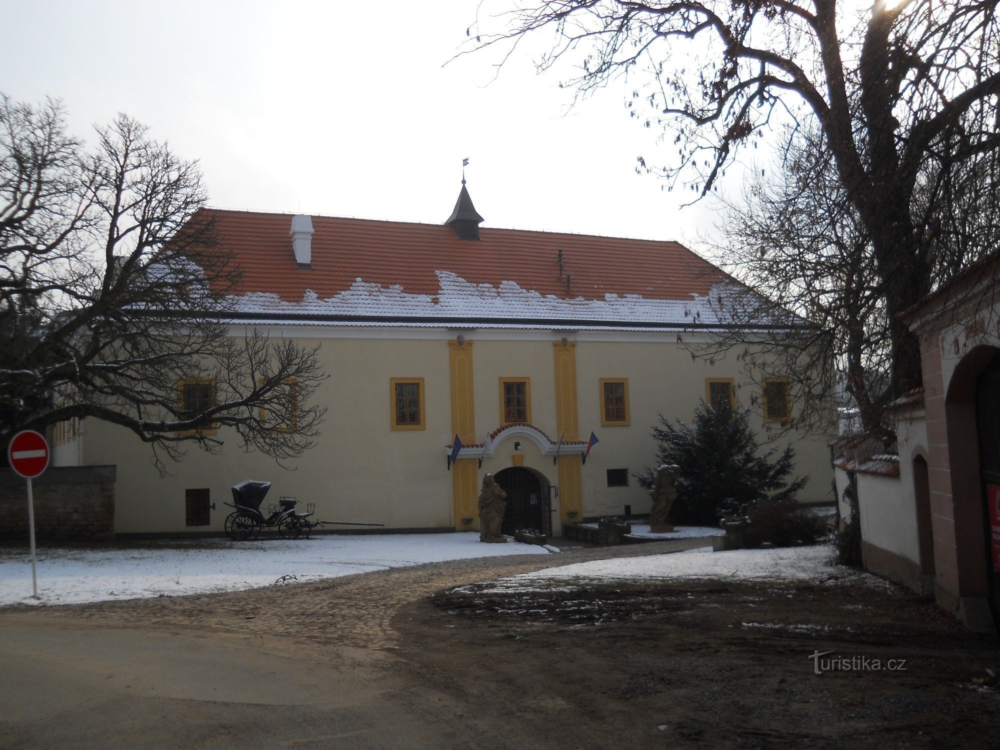
[[[783,166],[724,203],[715,251],[749,288],[713,298],[728,327],[712,345],[690,346],[707,357],[734,354],[757,383],[787,378],[801,405],[790,420],[797,428],[828,431],[831,407],[850,406],[866,432],[891,440],[883,419],[891,340],[871,242],[821,135],[798,139]],[[789,311],[815,327],[776,328],[747,345],[757,321]]]

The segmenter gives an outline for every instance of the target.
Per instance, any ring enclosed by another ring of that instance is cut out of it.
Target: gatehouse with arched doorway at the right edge
[[[922,413],[905,416],[899,431],[916,562],[933,576],[938,604],[981,631],[1000,629],[997,273],[994,254],[907,311],[921,342],[923,393],[912,400]]]

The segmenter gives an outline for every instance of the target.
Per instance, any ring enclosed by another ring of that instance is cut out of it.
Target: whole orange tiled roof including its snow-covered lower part
[[[317,216],[300,268],[291,215],[197,218],[215,222],[240,268],[237,318],[701,328],[725,325],[725,300],[747,294],[676,242],[490,228],[468,241],[443,225]]]

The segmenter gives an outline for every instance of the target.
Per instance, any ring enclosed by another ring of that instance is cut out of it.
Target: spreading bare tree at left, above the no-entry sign
[[[199,209],[196,162],[119,115],[85,150],[58,102],[0,98],[0,444],[92,417],[162,457],[223,428],[279,461],[324,410],[317,350],[229,335],[239,269]]]

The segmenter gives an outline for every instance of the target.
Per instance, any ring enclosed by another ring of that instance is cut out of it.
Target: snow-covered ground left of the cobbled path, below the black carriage
[[[479,534],[324,535],[298,541],[213,539],[171,548],[44,548],[38,554],[42,604],[234,591],[335,578],[404,565],[499,555],[547,555],[532,544],[481,544]],[[0,551],[0,605],[35,603],[27,551]]]

